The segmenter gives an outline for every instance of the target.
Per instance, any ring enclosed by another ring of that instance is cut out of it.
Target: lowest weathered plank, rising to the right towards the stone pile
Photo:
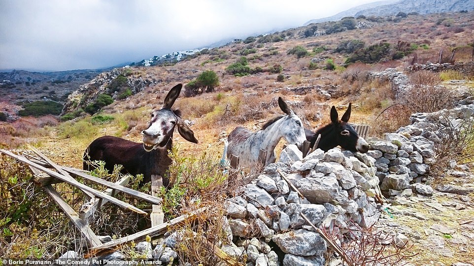
[[[84,257],[89,258],[92,256],[96,256],[98,254],[111,253],[114,251],[115,247],[118,245],[125,244],[127,242],[134,241],[134,240],[142,240],[146,236],[155,237],[155,236],[162,235],[166,233],[166,231],[168,230],[168,227],[178,225],[189,219],[194,219],[196,215],[202,213],[206,209],[207,209],[206,207],[203,207],[203,208],[197,209],[195,212],[176,217],[167,223],[150,227],[148,229],[145,229],[133,235],[115,239],[107,243],[103,243],[102,245],[94,246],[92,249],[89,250],[89,253],[86,254]]]

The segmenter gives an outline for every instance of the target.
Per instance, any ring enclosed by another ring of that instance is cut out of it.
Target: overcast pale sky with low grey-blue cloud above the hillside
[[[95,69],[302,26],[374,0],[0,0],[0,70]]]

